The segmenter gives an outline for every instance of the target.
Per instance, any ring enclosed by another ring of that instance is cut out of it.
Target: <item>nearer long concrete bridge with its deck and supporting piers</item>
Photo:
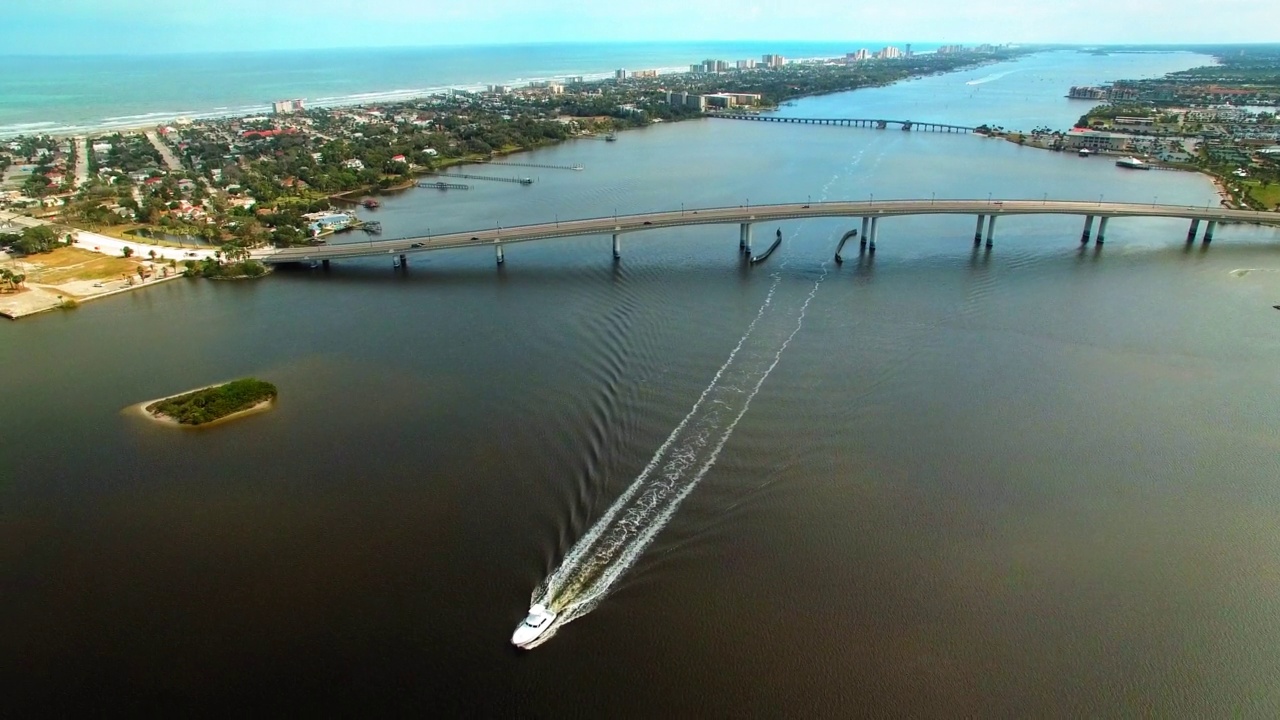
[[[876,251],[879,236],[879,222],[884,218],[913,215],[970,215],[977,217],[974,227],[974,246],[986,242],[992,247],[996,236],[996,220],[1006,215],[1076,215],[1084,218],[1080,242],[1097,245],[1106,240],[1107,222],[1112,218],[1176,218],[1188,220],[1187,242],[1196,241],[1201,223],[1206,223],[1202,242],[1213,241],[1213,231],[1219,223],[1252,223],[1280,225],[1280,213],[1258,210],[1226,210],[1211,206],[1156,205],[1137,202],[1092,202],[1076,200],[842,200],[835,202],[786,202],[780,205],[739,205],[732,208],[698,208],[663,210],[658,213],[639,213],[634,215],[607,215],[603,218],[584,218],[577,220],[557,220],[530,225],[500,227],[406,237],[398,240],[376,240],[340,245],[321,245],[307,247],[285,247],[255,252],[264,263],[314,263],[344,259],[393,255],[396,264],[407,261],[407,255],[448,250],[454,247],[493,247],[497,261],[503,263],[503,245],[512,242],[531,242],[559,237],[591,234],[613,236],[613,258],[621,258],[621,237],[626,233],[678,228],[689,225],[739,225],[739,250],[751,254],[751,227],[755,223],[782,220],[804,220],[810,218],[860,218],[861,227],[845,233],[836,246],[836,261],[841,261],[845,242],[859,237],[863,247]],[[1094,222],[1097,233],[1094,234]]]

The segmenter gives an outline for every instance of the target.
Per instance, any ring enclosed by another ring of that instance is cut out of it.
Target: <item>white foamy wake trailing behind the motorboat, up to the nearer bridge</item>
[[[782,263],[774,272],[764,304],[692,410],[676,425],[631,487],[534,592],[532,603],[547,606],[556,614],[556,623],[522,647],[547,642],[559,626],[590,612],[716,464],[721,448],[750,407],[751,398],[804,325],[809,305],[828,272],[823,263],[820,275],[797,307],[782,297],[790,295],[782,286],[785,266],[786,263]]]

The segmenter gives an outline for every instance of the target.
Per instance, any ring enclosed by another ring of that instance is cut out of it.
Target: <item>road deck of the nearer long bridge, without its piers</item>
[[[1226,210],[1211,206],[1091,202],[1073,200],[882,200],[838,202],[787,202],[736,208],[698,208],[604,218],[584,218],[511,228],[488,228],[398,240],[347,245],[287,247],[256,252],[264,263],[300,263],[337,258],[428,252],[452,247],[492,246],[557,237],[630,233],[658,228],[765,223],[806,218],[861,218],[905,215],[1093,215],[1096,218],[1180,218],[1280,225],[1280,213]]]

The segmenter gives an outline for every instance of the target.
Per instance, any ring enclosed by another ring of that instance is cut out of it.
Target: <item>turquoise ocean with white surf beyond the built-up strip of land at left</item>
[[[251,114],[273,100],[310,105],[413,97],[448,87],[687,68],[707,58],[844,55],[883,42],[543,44],[291,50],[189,55],[6,56],[0,137],[137,127],[177,117]],[[920,47],[925,50],[927,47]]]

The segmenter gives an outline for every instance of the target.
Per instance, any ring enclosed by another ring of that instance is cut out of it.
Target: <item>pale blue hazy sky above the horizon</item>
[[[0,54],[559,41],[1268,42],[1274,0],[3,0]]]

